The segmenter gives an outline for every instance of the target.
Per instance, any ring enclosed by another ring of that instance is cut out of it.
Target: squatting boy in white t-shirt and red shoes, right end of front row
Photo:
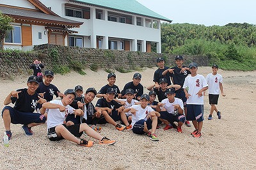
[[[173,124],[173,121],[178,122],[177,131],[182,133],[181,127],[186,121],[183,102],[180,98],[175,98],[175,89],[173,88],[167,89],[166,95],[167,98],[157,104],[156,111],[160,112],[160,107],[164,107],[166,111],[161,112],[160,120],[168,121],[170,125]]]

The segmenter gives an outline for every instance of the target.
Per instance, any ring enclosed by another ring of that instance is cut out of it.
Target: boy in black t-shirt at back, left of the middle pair
[[[107,94],[107,90],[108,88],[113,88],[115,89],[115,98],[118,97],[118,98],[122,98],[122,95],[121,95],[121,92],[120,92],[120,89],[118,88],[118,86],[115,85],[115,82],[116,82],[116,75],[115,73],[109,73],[108,74],[108,84],[106,84],[105,86],[103,86],[99,93],[96,95],[96,97],[100,98],[100,97],[104,97],[106,98],[106,94]]]

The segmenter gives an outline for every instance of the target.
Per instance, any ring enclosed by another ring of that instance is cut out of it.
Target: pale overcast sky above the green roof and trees
[[[256,0],[136,0],[172,23],[224,26],[256,24]]]

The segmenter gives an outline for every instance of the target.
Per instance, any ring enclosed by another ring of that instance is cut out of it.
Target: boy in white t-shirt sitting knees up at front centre
[[[131,107],[124,109],[124,112],[131,111],[132,113],[132,132],[134,132],[134,134],[147,133],[152,141],[158,141],[156,126],[157,117],[159,117],[160,114],[148,105],[148,101],[149,96],[143,94],[140,97],[140,105],[132,105]]]

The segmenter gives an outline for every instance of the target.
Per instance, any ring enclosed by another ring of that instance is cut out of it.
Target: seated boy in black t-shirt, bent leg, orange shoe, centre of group
[[[122,112],[124,111],[125,107],[113,100],[115,95],[115,89],[108,88],[106,98],[99,98],[95,107],[97,110],[96,117],[99,118],[99,123],[108,122],[114,125],[117,130],[122,131],[125,129],[125,127],[116,123],[116,121],[120,120],[120,114],[125,114]]]

